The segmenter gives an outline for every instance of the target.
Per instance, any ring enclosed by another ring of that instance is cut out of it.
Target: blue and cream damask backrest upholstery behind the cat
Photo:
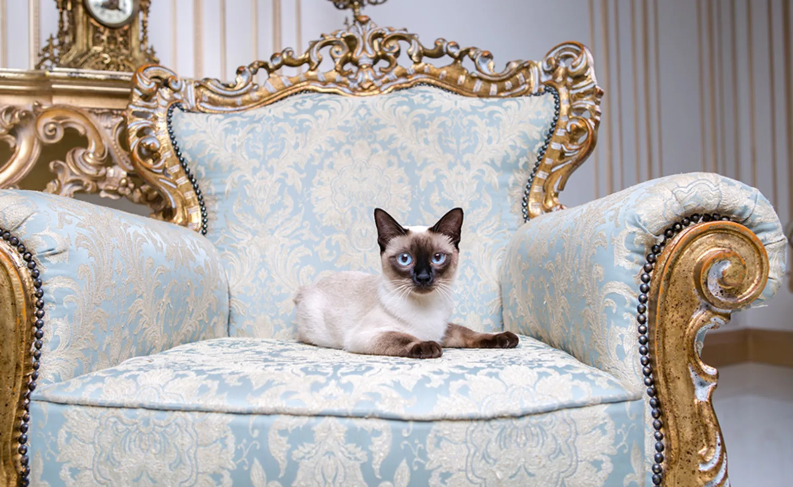
[[[501,328],[499,268],[550,95],[468,98],[429,86],[377,97],[297,94],[242,113],[174,112],[231,286],[232,336],[291,338],[297,288],[380,271],[372,213],[431,224],[465,210],[457,306]]]

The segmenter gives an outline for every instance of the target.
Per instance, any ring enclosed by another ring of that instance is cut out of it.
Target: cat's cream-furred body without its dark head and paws
[[[384,332],[441,343],[454,309],[448,293],[401,292],[381,275],[353,271],[301,288],[295,303],[301,342],[364,354]]]

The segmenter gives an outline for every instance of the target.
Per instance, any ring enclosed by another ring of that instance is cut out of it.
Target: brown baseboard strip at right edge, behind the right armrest
[[[705,338],[702,360],[714,367],[742,362],[793,367],[793,331],[741,328],[711,333]]]

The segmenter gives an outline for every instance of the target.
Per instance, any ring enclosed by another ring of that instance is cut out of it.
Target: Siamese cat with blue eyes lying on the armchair
[[[512,332],[478,333],[449,323],[462,209],[431,227],[403,227],[374,210],[383,272],[338,272],[294,298],[297,338],[357,354],[435,359],[442,347],[513,348]]]

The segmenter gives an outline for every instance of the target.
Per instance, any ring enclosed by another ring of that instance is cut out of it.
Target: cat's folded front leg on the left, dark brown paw
[[[409,359],[437,359],[443,355],[438,342],[421,341],[402,332],[362,332],[351,334],[344,349],[356,354],[390,355]]]

